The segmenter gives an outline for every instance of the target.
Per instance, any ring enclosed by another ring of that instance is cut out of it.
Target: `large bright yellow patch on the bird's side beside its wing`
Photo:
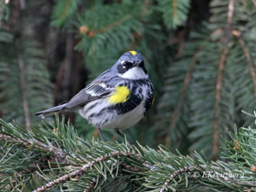
[[[131,91],[126,86],[120,86],[115,89],[112,96],[109,98],[109,102],[117,104],[120,102],[125,102],[129,99]]]

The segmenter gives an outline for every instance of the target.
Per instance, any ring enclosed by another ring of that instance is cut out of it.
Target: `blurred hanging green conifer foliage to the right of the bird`
[[[158,115],[160,126],[167,125],[167,145],[186,138],[191,152],[215,158],[226,128],[252,123],[241,110],[253,112],[256,104],[255,39],[249,35],[255,5],[214,0],[210,13],[209,22],[191,33],[184,55],[170,65]]]

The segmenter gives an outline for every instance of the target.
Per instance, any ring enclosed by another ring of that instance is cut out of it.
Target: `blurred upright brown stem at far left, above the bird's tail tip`
[[[24,59],[19,51],[18,51],[18,67],[19,67],[20,86],[21,86],[21,92],[22,92],[23,110],[25,115],[25,124],[26,124],[27,131],[31,131],[29,106],[28,106],[28,100],[27,100],[27,82],[25,79],[25,76],[26,76],[25,64],[24,64]]]

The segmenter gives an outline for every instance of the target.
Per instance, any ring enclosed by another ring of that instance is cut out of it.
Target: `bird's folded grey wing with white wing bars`
[[[70,110],[87,104],[90,101],[95,101],[105,98],[114,91],[114,85],[109,84],[106,80],[108,73],[102,73],[96,80],[86,86],[78,94],[76,94],[62,110]]]

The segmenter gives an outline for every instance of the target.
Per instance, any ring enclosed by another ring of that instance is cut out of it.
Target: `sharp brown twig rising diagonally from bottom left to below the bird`
[[[117,152],[112,152],[112,153],[110,153],[108,155],[105,155],[105,156],[98,157],[94,161],[91,161],[90,163],[81,166],[80,169],[78,169],[76,171],[70,172],[69,174],[66,174],[64,176],[59,176],[59,178],[57,178],[57,179],[55,179],[51,182],[48,182],[48,184],[46,184],[42,187],[37,187],[37,189],[34,190],[33,192],[45,191],[45,190],[47,190],[51,187],[54,187],[54,186],[56,186],[60,183],[63,183],[65,181],[67,181],[71,177],[82,175],[85,171],[87,171],[93,165],[97,165],[97,164],[99,164],[100,162],[102,162],[106,159],[109,159],[109,158],[114,157],[114,156],[120,156],[120,155],[121,156],[127,156],[127,155],[135,155],[135,154],[131,154],[130,152],[117,151]]]

